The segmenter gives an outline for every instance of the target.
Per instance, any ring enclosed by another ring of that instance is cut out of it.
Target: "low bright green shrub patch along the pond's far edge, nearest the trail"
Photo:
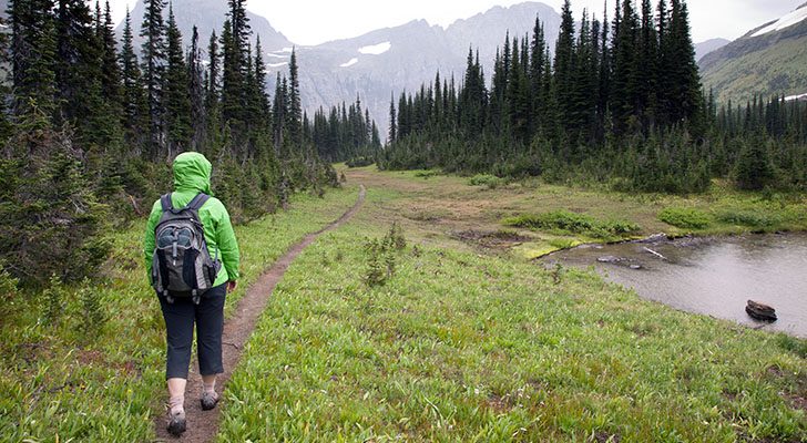
[[[594,217],[555,210],[545,214],[524,214],[504,219],[504,225],[527,229],[560,230],[564,233],[581,234],[595,238],[607,238],[635,233],[640,226],[630,222],[601,222]]]

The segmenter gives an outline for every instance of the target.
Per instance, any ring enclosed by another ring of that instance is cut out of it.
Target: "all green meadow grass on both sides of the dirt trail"
[[[596,275],[546,271],[448,234],[496,233],[502,218],[552,212],[625,219],[642,226],[636,235],[681,229],[658,219],[668,207],[713,215],[697,234],[757,229],[740,224],[747,217],[718,217],[737,213],[766,214],[774,224],[765,230],[805,230],[804,196],[718,184],[683,198],[530,181],[479,192],[456,176],[345,174],[368,186],[367,203],[278,286],[224,393],[219,441],[807,439],[796,408],[807,396],[807,340],[675,311]],[[302,197],[289,213],[238,227],[244,279],[227,310],[289,245],[355,198],[355,187]],[[410,246],[397,272],[368,288],[365,241],[396,220]],[[82,327],[79,288],[64,288],[59,327],[41,322],[40,298],[2,305],[0,441],[154,440],[164,326],[141,230],[115,238],[105,277],[90,286],[110,318],[96,334]],[[589,238],[558,227],[529,234],[535,241],[517,246],[529,254]]]

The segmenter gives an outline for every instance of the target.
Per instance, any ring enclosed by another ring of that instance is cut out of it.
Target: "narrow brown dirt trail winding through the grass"
[[[365,202],[366,189],[360,187],[358,200],[347,213],[338,220],[331,223],[325,228],[308,234],[298,244],[283,255],[261,278],[254,282],[247,290],[244,298],[238,302],[235,313],[224,323],[224,337],[222,359],[224,361],[224,373],[218,377],[216,382],[216,391],[221,393],[233,374],[233,370],[241,360],[242,350],[246,341],[249,339],[258,317],[266,308],[266,303],[272,296],[277,284],[286,274],[286,269],[299,256],[299,254],[313,244],[317,237],[329,230],[336,229],[345,222],[349,220],[360,208]],[[197,374],[197,365],[194,360],[191,368],[191,374],[187,380],[187,389],[185,391],[185,412],[187,414],[187,431],[178,439],[171,436],[165,430],[166,412],[161,409],[155,418],[155,426],[157,433],[157,442],[212,442],[218,434],[218,423],[221,421],[221,409],[224,399],[213,411],[202,411],[198,402],[202,392],[202,378]],[[223,395],[222,395],[223,396]]]

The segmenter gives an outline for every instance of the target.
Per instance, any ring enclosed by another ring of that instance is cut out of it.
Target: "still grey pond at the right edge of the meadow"
[[[593,266],[641,297],[676,309],[807,338],[804,234],[584,246],[542,260]],[[776,308],[778,321],[765,326],[749,318],[748,299]]]

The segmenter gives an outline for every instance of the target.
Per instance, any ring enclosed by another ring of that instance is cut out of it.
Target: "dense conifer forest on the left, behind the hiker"
[[[358,102],[309,124],[295,53],[266,93],[245,3],[228,1],[222,34],[205,44],[195,28],[181,34],[164,0],[145,0],[135,48],[131,14],[118,41],[109,2],[94,10],[83,0],[9,2],[0,33],[6,271],[23,284],[92,274],[108,254],[104,233],[147,214],[171,189],[178,153],[205,154],[216,196],[247,220],[294,192],[336,185],[323,158],[355,155],[374,134],[380,145]]]

